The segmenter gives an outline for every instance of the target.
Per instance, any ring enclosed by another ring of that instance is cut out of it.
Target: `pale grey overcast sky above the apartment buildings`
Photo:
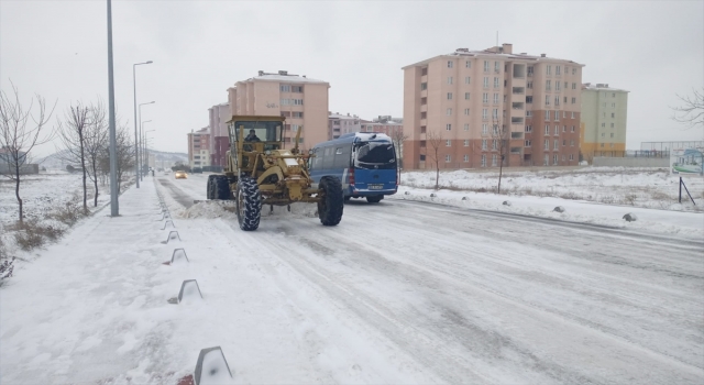
[[[702,140],[671,120],[676,95],[704,86],[704,1],[119,1],[112,2],[116,102],[133,127],[132,64],[145,130],[186,152],[208,108],[257,70],[330,82],[329,110],[403,116],[402,67],[513,43],[586,65],[583,81],[629,90],[628,148]],[[108,100],[106,1],[0,0],[0,87],[24,100]],[[53,152],[43,147],[42,155]]]

